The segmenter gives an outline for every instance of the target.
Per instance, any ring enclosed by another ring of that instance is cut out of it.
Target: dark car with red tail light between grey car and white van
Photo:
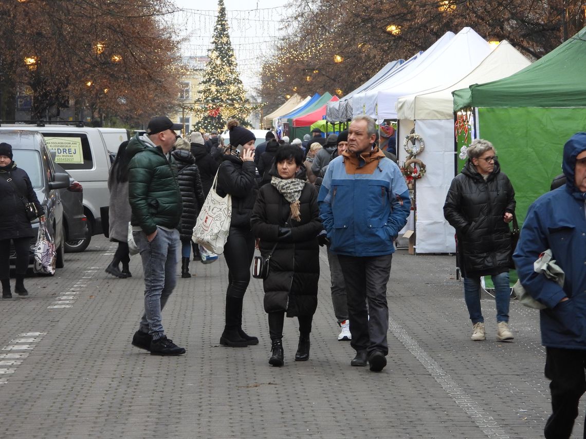
[[[51,153],[53,157],[54,153]],[[90,243],[87,236],[87,218],[83,213],[83,186],[74,180],[58,163],[54,163],[56,172],[69,175],[69,187],[59,189],[63,203],[63,229],[65,232],[65,252],[83,252]]]

